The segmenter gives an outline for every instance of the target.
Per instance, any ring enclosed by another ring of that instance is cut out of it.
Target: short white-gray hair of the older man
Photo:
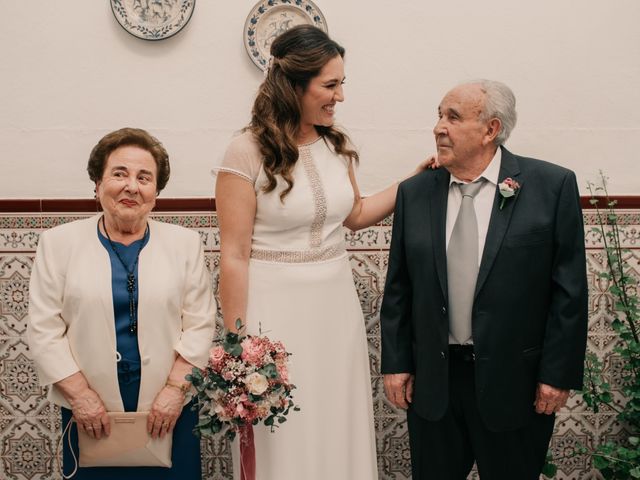
[[[478,85],[486,95],[480,120],[488,121],[497,118],[502,123],[502,128],[494,143],[498,146],[503,145],[511,135],[518,119],[515,95],[504,83],[495,80],[482,79],[470,83]]]

